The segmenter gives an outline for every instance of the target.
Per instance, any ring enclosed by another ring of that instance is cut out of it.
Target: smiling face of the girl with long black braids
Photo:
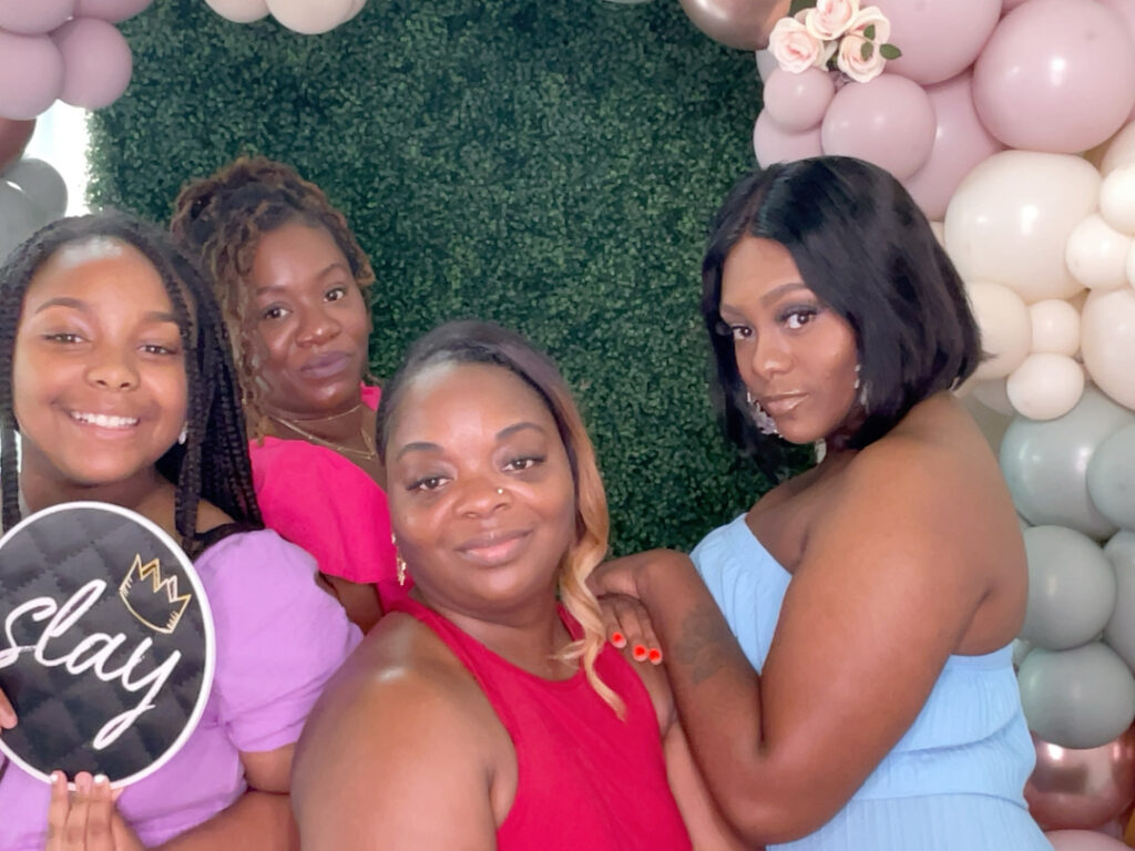
[[[173,304],[141,252],[94,237],[40,268],[16,331],[12,405],[22,477],[153,478],[185,423],[186,374]]]

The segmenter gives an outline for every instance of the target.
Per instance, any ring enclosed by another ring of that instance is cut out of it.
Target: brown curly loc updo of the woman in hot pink
[[[289,166],[264,157],[242,157],[220,171],[185,186],[174,202],[169,229],[199,258],[213,283],[241,372],[242,398],[253,437],[271,432],[257,374],[246,312],[252,303],[245,280],[252,271],[260,237],[284,225],[322,227],[335,239],[359,288],[375,280],[370,260],[359,246],[343,213],[316,184]]]

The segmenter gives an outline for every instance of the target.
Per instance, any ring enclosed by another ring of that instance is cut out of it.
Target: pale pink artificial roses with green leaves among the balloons
[[[768,50],[787,71],[808,68],[839,70],[857,83],[883,73],[888,59],[902,56],[888,42],[891,22],[876,6],[859,0],[802,0],[793,14],[776,22]]]

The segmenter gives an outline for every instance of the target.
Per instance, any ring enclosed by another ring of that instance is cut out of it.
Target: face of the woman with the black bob
[[[721,318],[746,388],[785,440],[829,438],[857,407],[856,338],[780,243],[737,242],[722,268]]]

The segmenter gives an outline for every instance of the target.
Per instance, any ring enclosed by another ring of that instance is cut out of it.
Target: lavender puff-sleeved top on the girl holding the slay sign
[[[205,821],[245,791],[241,752],[300,738],[325,683],[361,635],[316,584],[311,557],[269,530],[224,538],[196,561],[217,631],[204,714],[166,765],[118,801],[146,848]],[[2,764],[2,757],[0,757]],[[8,765],[0,780],[0,849],[42,851],[50,787]]]

